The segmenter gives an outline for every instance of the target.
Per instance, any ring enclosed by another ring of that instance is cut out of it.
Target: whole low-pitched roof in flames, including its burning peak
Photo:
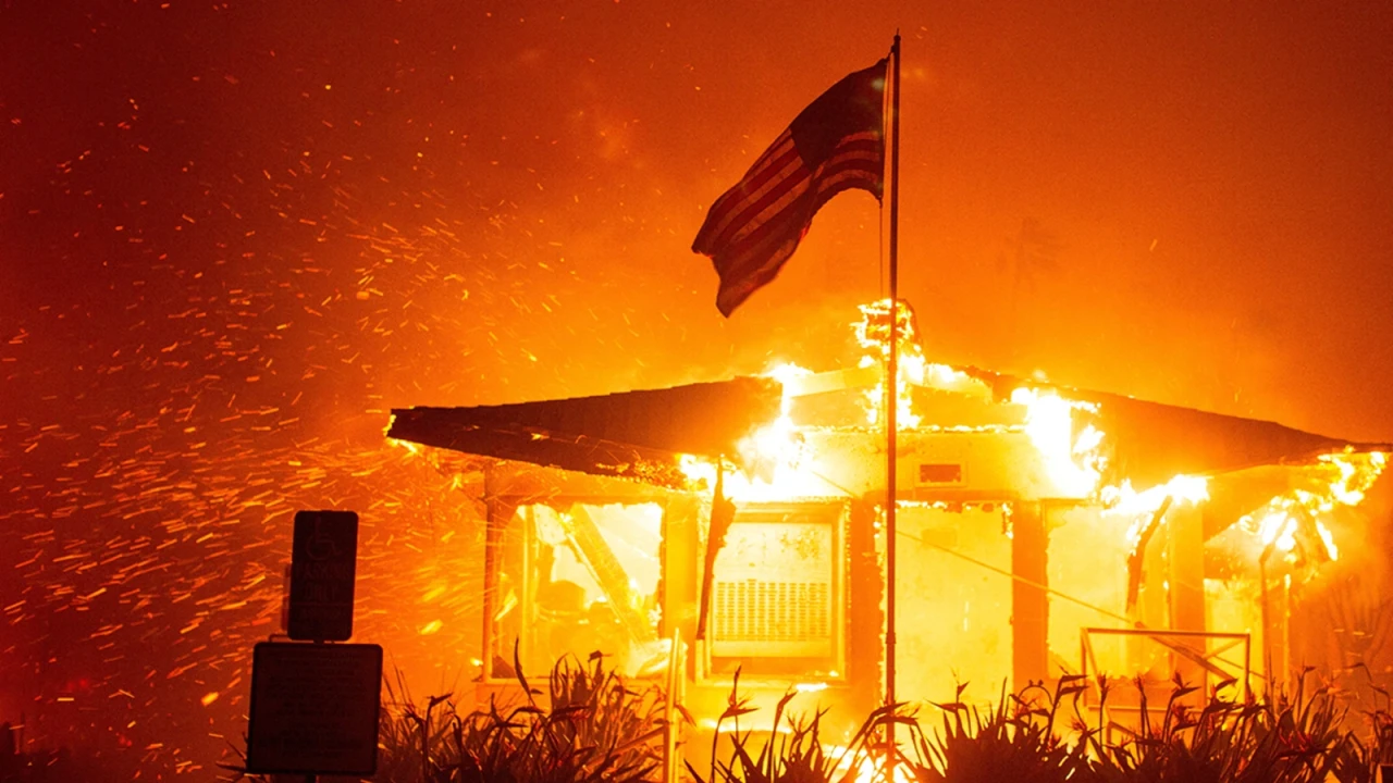
[[[875,493],[885,481],[883,457],[875,453],[885,447],[878,422],[892,308],[886,300],[861,311],[854,332],[865,357],[857,368],[814,373],[784,365],[769,378],[507,405],[404,408],[393,411],[387,435],[687,490],[710,489],[716,463],[726,461],[742,468],[726,486],[737,499]],[[901,492],[901,499],[921,490],[940,500],[985,492],[1098,497],[1124,507],[1134,497],[1153,507],[1165,496],[1208,497],[1209,479],[1222,476],[1213,489],[1233,500],[1219,503],[1224,518],[1206,524],[1208,538],[1272,497],[1311,509],[1354,504],[1390,450],[1268,421],[933,364],[908,304],[894,312],[901,472],[928,470],[918,483],[932,485]],[[978,457],[968,461],[975,467],[965,465],[961,460],[974,449]],[[983,449],[996,457],[981,461]],[[956,478],[939,482],[935,470]],[[967,470],[976,471],[971,486],[963,479]]]

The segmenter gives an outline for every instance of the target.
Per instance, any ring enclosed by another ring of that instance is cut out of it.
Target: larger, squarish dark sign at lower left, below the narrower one
[[[380,709],[380,645],[260,642],[247,772],[375,775]]]

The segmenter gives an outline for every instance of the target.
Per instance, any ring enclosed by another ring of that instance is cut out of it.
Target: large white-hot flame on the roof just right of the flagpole
[[[1071,496],[1092,495],[1102,478],[1103,433],[1089,424],[1074,437],[1074,411],[1096,414],[1098,405],[1028,386],[1011,392],[1011,403],[1025,405],[1025,435],[1041,453],[1055,486]]]

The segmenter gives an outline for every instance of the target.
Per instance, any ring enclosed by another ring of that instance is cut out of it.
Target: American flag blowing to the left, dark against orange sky
[[[722,315],[779,274],[827,199],[848,188],[880,198],[885,77],[880,60],[832,85],[710,205],[692,251],[716,266]]]

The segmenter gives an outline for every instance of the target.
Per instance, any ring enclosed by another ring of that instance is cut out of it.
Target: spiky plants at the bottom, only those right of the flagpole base
[[[1107,718],[1110,685],[1099,679],[1096,712],[1080,705],[1085,683],[1064,677],[1053,691],[1032,684],[1004,694],[995,709],[940,705],[943,727],[917,736],[921,782],[1078,783],[1376,783],[1387,738],[1364,743],[1344,729],[1334,692],[1302,674],[1291,692],[1266,701],[1231,698],[1234,683],[1191,706],[1194,687],[1178,679],[1165,704],[1139,706],[1133,727]],[[960,691],[961,692],[961,691]],[[1393,730],[1393,720],[1380,726]],[[925,761],[928,763],[925,763]]]

